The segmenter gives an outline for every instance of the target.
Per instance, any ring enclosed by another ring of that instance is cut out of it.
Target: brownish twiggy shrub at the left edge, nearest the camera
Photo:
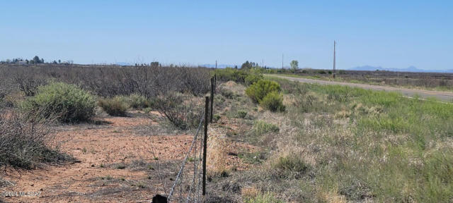
[[[0,168],[34,168],[41,162],[69,159],[50,147],[52,137],[47,123],[30,121],[15,111],[0,114]]]

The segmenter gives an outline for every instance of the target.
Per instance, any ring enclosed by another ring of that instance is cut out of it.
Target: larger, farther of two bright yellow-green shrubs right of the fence
[[[280,85],[270,80],[259,80],[246,89],[247,96],[255,103],[260,103],[269,92],[280,92]]]

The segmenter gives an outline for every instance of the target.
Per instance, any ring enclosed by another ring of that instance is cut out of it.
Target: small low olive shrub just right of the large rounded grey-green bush
[[[110,116],[127,116],[127,109],[130,108],[127,97],[121,96],[99,99],[98,106]]]

